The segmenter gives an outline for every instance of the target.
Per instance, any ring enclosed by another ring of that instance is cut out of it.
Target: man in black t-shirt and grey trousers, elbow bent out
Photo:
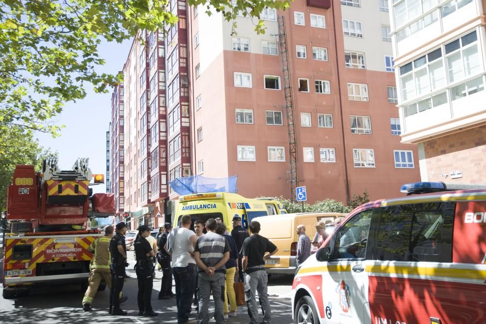
[[[272,310],[268,301],[267,284],[268,277],[265,271],[265,260],[274,255],[278,248],[267,238],[260,236],[260,223],[253,221],[250,223],[251,236],[243,241],[243,272],[244,272],[244,292],[250,324],[270,323],[272,320]],[[260,305],[263,310],[263,322],[258,320],[258,306],[255,292],[258,290]]]

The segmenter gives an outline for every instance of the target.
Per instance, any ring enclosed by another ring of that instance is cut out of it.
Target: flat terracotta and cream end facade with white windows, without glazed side
[[[245,196],[290,197],[289,132],[279,34],[284,17],[299,186],[312,202],[366,189],[399,195],[417,181],[415,145],[400,143],[386,1],[296,0],[265,9],[265,34],[203,7],[188,13],[195,172],[238,175]],[[289,79],[287,79],[289,80]]]

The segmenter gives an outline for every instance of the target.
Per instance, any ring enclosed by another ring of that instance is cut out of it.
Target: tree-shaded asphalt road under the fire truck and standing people
[[[128,253],[130,262],[130,259],[133,257],[133,251]],[[0,252],[1,264],[3,264],[2,258]],[[0,323],[177,323],[175,298],[157,300],[162,276],[162,273],[158,271],[156,271],[156,279],[154,279],[152,306],[159,315],[152,318],[138,316],[137,279],[133,270],[133,260],[130,263],[132,266],[127,268],[127,274],[130,278],[126,279],[123,288],[123,293],[125,296],[128,296],[128,301],[122,304],[122,308],[128,311],[127,316],[111,316],[108,314],[108,289],[98,291],[93,301],[93,311],[85,312],[81,308],[84,291],[80,290],[79,285],[63,285],[35,288],[29,296],[16,297],[11,300],[4,300],[0,297]],[[3,269],[1,269],[0,273],[3,273]],[[268,293],[272,305],[272,323],[293,323],[289,298],[291,286],[292,278],[289,276],[274,276],[269,281]],[[211,307],[209,309],[211,316],[214,304],[211,302],[209,306]],[[237,315],[238,317],[236,318],[226,320],[226,323],[249,323],[245,306],[238,307]],[[195,312],[191,319],[197,319]],[[210,323],[215,323],[215,321],[212,320]]]

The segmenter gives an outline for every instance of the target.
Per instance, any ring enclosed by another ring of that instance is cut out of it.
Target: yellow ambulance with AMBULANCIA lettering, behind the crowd
[[[174,226],[179,224],[182,215],[191,215],[194,221],[199,219],[204,222],[220,217],[229,229],[234,216],[240,216],[243,227],[248,229],[248,224],[257,217],[287,213],[277,200],[245,198],[231,192],[180,196],[175,210]]]

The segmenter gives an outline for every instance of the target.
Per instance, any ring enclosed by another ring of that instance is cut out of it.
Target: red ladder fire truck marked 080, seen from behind
[[[92,254],[88,246],[101,232],[91,229],[91,217],[114,215],[112,194],[94,194],[88,159],[61,171],[56,157],[44,161],[43,171],[17,165],[7,191],[11,233],[3,242],[3,298],[28,292],[33,284],[87,285]],[[95,183],[103,182],[95,175]]]

